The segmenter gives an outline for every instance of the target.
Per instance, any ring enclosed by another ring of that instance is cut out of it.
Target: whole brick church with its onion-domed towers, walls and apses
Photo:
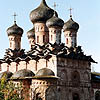
[[[9,48],[0,59],[0,72],[13,73],[9,78],[14,84],[22,82],[29,89],[25,100],[99,100],[100,94],[95,99],[95,93],[99,91],[100,79],[96,81],[95,74],[91,77],[91,63],[96,62],[77,46],[79,24],[72,15],[64,23],[42,0],[30,13],[30,19],[30,51],[21,49],[23,29],[14,21],[7,29]],[[62,30],[65,43],[61,43]]]

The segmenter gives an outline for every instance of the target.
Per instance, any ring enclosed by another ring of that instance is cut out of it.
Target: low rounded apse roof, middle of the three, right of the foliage
[[[12,79],[23,79],[23,78],[28,78],[28,77],[33,77],[35,74],[27,69],[22,69],[17,72],[15,72],[12,76]]]

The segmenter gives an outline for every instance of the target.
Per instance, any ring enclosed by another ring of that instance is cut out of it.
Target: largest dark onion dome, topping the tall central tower
[[[48,7],[45,0],[42,0],[40,6],[35,10],[31,11],[30,19],[32,23],[46,22],[48,19],[50,19],[53,16],[53,13],[54,10]]]

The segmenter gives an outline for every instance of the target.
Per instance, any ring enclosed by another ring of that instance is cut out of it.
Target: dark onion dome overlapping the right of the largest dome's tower
[[[52,18],[50,18],[49,20],[47,20],[46,25],[47,25],[47,27],[54,27],[54,26],[63,27],[64,21],[62,19],[58,18],[54,14]]]

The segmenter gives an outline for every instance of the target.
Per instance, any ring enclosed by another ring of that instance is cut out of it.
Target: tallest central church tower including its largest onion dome
[[[49,42],[49,32],[46,21],[54,14],[54,10],[48,7],[45,0],[42,0],[40,6],[30,13],[30,19],[35,27],[36,44],[44,45]]]

